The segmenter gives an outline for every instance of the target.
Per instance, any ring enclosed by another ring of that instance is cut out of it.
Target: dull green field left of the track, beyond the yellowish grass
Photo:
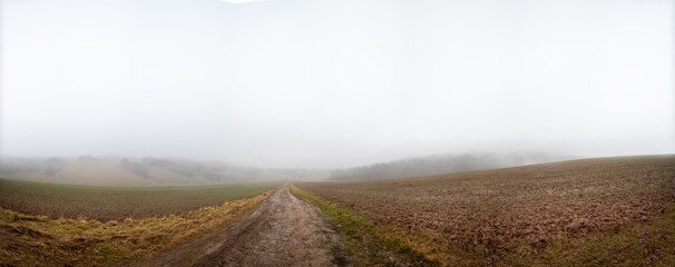
[[[0,179],[0,208],[100,221],[176,215],[256,196],[281,181],[185,187],[96,187]]]

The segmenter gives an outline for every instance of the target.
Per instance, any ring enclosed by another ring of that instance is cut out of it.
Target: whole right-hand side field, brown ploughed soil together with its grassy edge
[[[295,185],[352,244],[430,263],[675,265],[675,156]]]

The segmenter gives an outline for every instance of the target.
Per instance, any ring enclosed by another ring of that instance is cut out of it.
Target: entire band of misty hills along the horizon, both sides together
[[[266,180],[381,180],[565,160],[547,154],[464,154],[410,158],[349,169],[265,169],[174,158],[1,158],[0,177],[90,186],[184,186]]]

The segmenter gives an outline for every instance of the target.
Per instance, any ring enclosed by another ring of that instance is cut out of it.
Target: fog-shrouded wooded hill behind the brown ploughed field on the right
[[[418,157],[331,171],[331,180],[382,180],[431,176],[471,170],[487,170],[566,160],[571,157],[544,152],[463,154]]]

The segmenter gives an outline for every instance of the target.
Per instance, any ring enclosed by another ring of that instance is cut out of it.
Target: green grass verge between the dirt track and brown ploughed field
[[[440,266],[393,233],[372,224],[371,214],[366,211],[339,206],[295,186],[291,186],[291,192],[317,206],[329,217],[360,266]]]

